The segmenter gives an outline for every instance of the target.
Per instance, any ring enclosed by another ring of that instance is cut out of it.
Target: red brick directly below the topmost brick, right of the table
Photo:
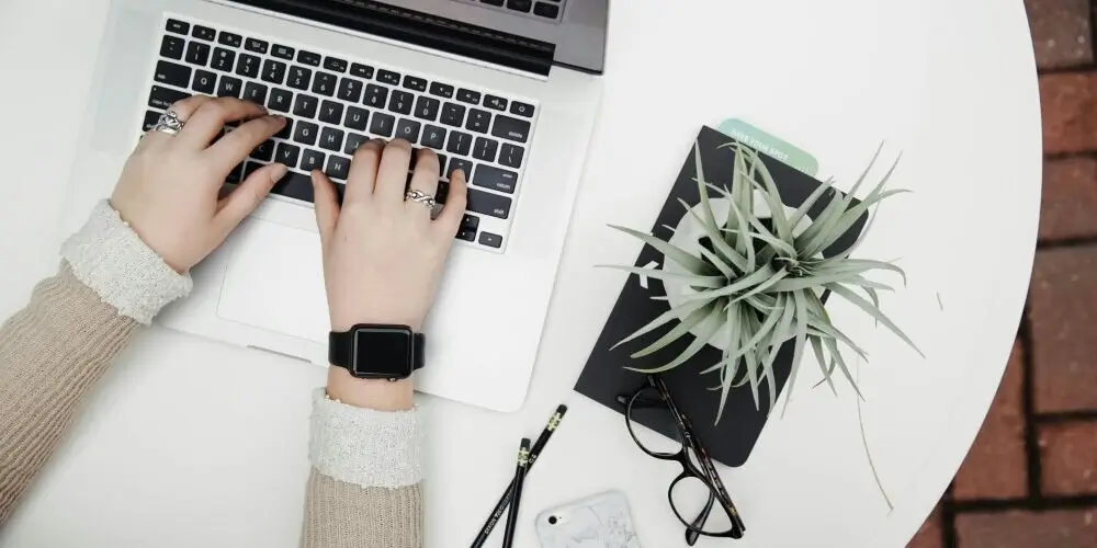
[[[1061,73],[1040,77],[1043,151],[1097,149],[1097,75]]]

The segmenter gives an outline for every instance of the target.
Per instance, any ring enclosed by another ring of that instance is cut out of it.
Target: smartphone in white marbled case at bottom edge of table
[[[541,548],[640,548],[629,501],[609,491],[538,514]]]

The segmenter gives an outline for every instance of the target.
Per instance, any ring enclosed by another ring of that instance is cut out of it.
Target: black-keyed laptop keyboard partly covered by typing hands
[[[281,162],[290,171],[273,194],[312,203],[310,171],[323,170],[346,184],[360,145],[399,137],[438,152],[440,203],[445,203],[449,173],[460,168],[468,176],[468,207],[457,240],[496,252],[506,248],[536,121],[530,100],[171,16],[143,132],[165,109],[193,94],[244,99],[287,118],[229,182]]]

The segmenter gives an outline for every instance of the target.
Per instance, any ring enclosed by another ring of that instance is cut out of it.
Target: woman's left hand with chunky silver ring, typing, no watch
[[[195,95],[173,105],[177,135],[149,132],[126,161],[111,205],[169,266],[186,272],[201,262],[267,197],[286,168],[267,165],[225,197],[228,173],[276,134],[285,118],[255,103]],[[222,127],[247,121],[217,139]],[[213,142],[217,139],[216,142]]]

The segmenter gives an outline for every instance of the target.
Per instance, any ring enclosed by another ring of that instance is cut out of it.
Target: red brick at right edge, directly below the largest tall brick
[[[1043,494],[1097,493],[1097,422],[1040,427]]]

